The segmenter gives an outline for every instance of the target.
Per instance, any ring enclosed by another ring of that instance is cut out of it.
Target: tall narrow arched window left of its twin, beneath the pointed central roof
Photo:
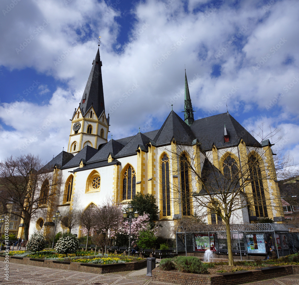
[[[170,216],[170,185],[169,185],[169,158],[166,154],[161,160],[162,170],[162,215]]]

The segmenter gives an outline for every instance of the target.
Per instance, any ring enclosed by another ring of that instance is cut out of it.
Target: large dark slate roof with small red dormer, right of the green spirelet
[[[229,142],[226,143],[224,141],[224,124],[229,138]],[[190,128],[202,143],[203,150],[210,150],[213,144],[217,148],[232,147],[239,143],[240,138],[245,141],[246,145],[260,145],[229,113],[196,120]]]

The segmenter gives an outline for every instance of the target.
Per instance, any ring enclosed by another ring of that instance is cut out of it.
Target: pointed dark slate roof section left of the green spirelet
[[[164,124],[156,134],[153,141],[157,146],[169,144],[174,138],[177,143],[191,145],[196,138],[191,128],[173,110],[168,115]]]

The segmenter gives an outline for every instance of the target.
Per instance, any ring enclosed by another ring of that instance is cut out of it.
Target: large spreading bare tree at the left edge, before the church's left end
[[[25,240],[28,240],[30,220],[45,216],[47,207],[56,203],[56,188],[60,184],[60,177],[53,168],[44,167],[39,156],[10,156],[0,162],[2,213],[23,219]],[[8,204],[14,207],[7,207]]]

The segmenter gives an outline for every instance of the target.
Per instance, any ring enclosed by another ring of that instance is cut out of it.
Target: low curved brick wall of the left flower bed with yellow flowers
[[[4,261],[5,255],[0,256],[0,261]],[[20,257],[9,257],[9,262],[27,264],[40,267],[48,267],[55,269],[65,269],[65,270],[75,270],[89,273],[105,274],[112,272],[121,272],[121,271],[132,271],[138,270],[147,266],[146,260],[140,260],[135,262],[127,263],[115,263],[115,264],[88,264],[80,262],[65,262],[65,261],[56,261],[50,259],[37,259],[37,258],[20,258]]]

